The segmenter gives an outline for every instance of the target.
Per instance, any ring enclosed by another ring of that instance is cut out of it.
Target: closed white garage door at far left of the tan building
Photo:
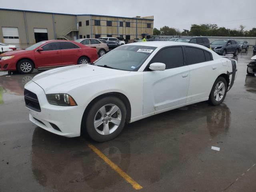
[[[17,27],[2,27],[4,43],[20,44],[19,32]]]

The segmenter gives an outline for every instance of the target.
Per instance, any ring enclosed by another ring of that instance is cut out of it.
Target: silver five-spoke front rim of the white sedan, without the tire
[[[120,125],[121,110],[114,104],[102,106],[94,117],[94,128],[101,135],[112,134]]]

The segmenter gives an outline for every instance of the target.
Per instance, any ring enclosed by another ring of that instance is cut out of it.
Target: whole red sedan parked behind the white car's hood
[[[74,41],[48,40],[38,42],[25,50],[0,54],[0,71],[18,71],[28,74],[34,68],[86,64],[98,59],[96,48]]]

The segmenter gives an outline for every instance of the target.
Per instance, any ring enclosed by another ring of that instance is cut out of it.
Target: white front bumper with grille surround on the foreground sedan
[[[65,137],[80,136],[82,116],[86,106],[56,106],[48,103],[44,90],[33,81],[25,89],[38,97],[41,112],[28,108],[29,120],[37,126]],[[55,125],[55,126],[54,126]],[[58,129],[56,129],[56,126]]]

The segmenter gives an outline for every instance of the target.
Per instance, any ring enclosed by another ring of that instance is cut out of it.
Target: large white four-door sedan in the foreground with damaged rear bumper
[[[138,42],[92,64],[42,72],[25,86],[29,118],[54,134],[103,142],[126,123],[208,100],[223,102],[236,60],[182,42]]]

